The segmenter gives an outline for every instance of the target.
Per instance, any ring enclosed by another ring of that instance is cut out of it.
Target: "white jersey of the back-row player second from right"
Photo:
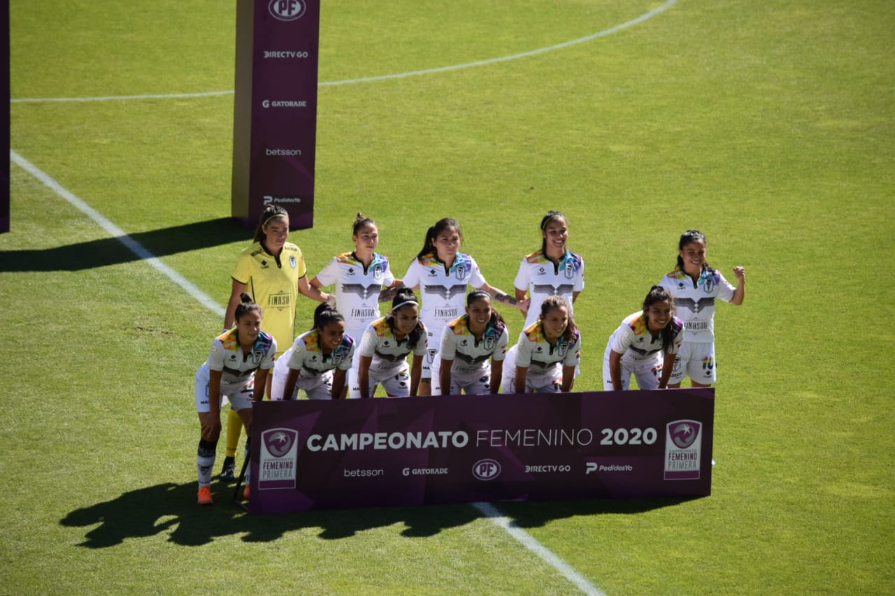
[[[532,302],[525,316],[525,327],[541,318],[541,302],[548,296],[562,296],[570,307],[575,292],[584,290],[584,259],[572,251],[566,251],[563,258],[554,261],[543,251],[527,255],[519,265],[519,272],[513,285],[517,290],[527,291]]]

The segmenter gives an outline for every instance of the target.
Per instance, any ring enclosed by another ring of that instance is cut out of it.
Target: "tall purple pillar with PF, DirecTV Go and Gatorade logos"
[[[232,213],[313,226],[320,0],[239,0]]]

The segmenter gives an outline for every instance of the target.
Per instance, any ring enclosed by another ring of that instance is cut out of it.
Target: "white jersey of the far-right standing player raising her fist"
[[[703,269],[694,281],[679,268],[662,277],[659,285],[674,299],[675,314],[684,321],[684,341],[713,344],[715,299],[730,302],[735,288],[717,269]]]

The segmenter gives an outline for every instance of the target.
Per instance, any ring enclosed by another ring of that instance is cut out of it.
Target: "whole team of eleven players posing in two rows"
[[[299,389],[310,399],[369,398],[378,386],[392,397],[572,389],[581,361],[573,305],[584,290],[584,260],[567,248],[561,212],[541,219],[541,249],[522,260],[514,297],[489,285],[473,257],[460,251],[463,235],[450,218],[429,228],[401,279],[376,252],[379,232],[369,217],[358,214],[354,221],[354,251],[334,257],[310,282],[302,251],[286,241],[288,229],[285,209],[264,211],[255,242],[234,269],[225,331],[196,375],[200,505],[212,502],[226,401],[231,417],[221,476],[232,479],[239,434],[243,424],[251,426],[251,401],[265,390],[271,399],[288,400]],[[741,304],[746,272],[733,268],[738,285],[730,285],[706,262],[705,236],[695,230],[681,235],[678,251],[678,266],[609,337],[604,388],[627,389],[632,375],[642,389],[680,387],[686,376],[694,387],[715,382],[715,299]],[[330,285],[334,294],[320,291]],[[293,339],[297,293],[321,304],[313,327]],[[492,301],[525,316],[515,345]],[[385,316],[380,302],[390,302]],[[248,490],[246,482],[246,498]]]

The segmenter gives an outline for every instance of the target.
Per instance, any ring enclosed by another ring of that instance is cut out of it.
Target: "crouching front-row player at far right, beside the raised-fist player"
[[[684,321],[673,316],[670,294],[653,285],[644,310],[628,315],[609,337],[603,354],[603,387],[629,389],[631,375],[641,389],[668,386],[674,359],[684,340]]]

